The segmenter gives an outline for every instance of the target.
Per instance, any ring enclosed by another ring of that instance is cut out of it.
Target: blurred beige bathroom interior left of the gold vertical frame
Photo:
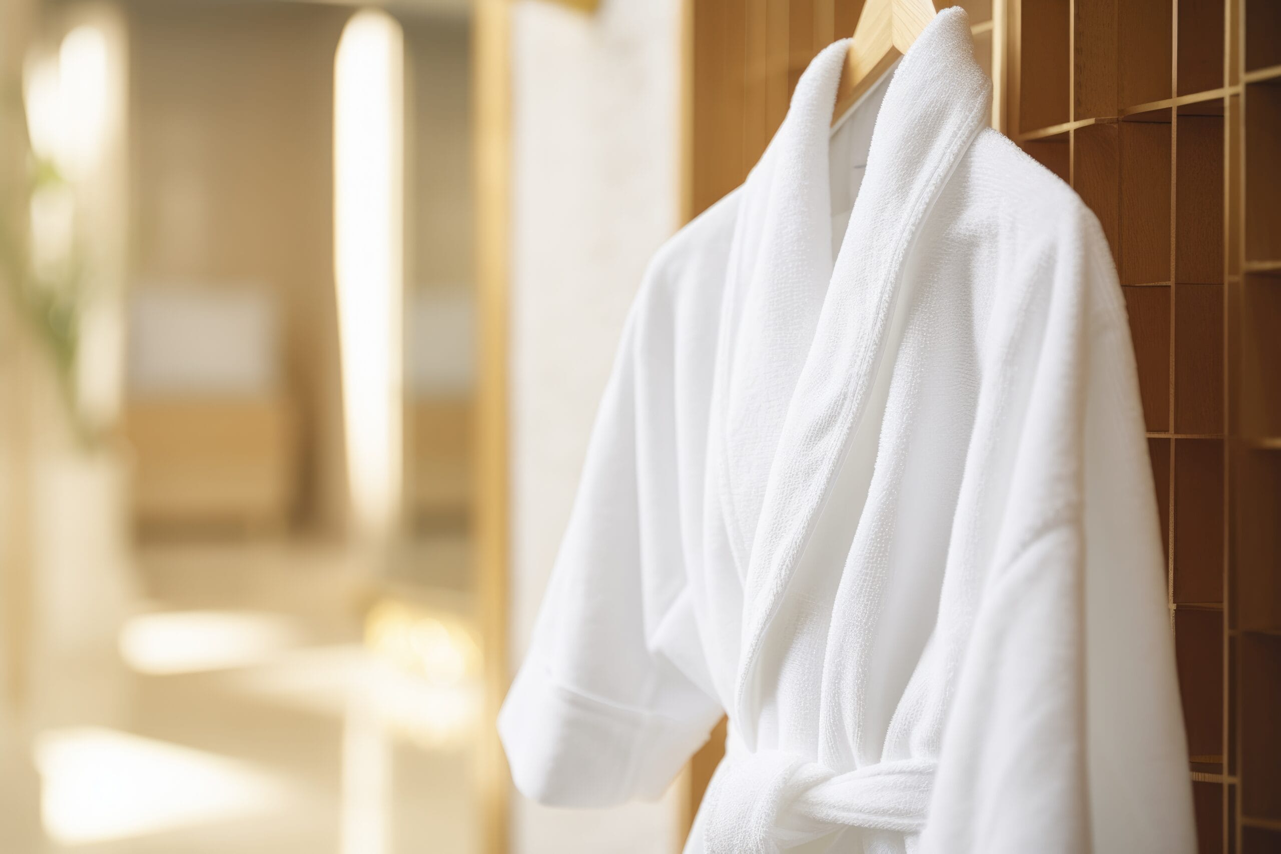
[[[26,6],[0,849],[475,850],[468,4]]]

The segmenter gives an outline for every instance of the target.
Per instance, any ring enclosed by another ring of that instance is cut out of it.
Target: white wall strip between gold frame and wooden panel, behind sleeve
[[[649,256],[678,225],[680,0],[512,22],[512,658],[524,654],[588,431]],[[516,795],[514,854],[678,850],[676,793],[578,812]]]

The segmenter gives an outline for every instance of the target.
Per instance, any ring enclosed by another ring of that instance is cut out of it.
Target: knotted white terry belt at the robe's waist
[[[848,773],[783,750],[730,752],[707,789],[705,854],[776,854],[844,827],[925,827],[934,759],[894,759]]]

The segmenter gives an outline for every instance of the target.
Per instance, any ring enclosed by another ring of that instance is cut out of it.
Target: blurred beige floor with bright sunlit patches
[[[397,575],[437,561],[459,577],[466,551],[412,558]],[[29,723],[0,727],[0,851],[475,850],[464,594],[392,593],[315,545],[151,547],[138,563],[117,648],[41,663]]]

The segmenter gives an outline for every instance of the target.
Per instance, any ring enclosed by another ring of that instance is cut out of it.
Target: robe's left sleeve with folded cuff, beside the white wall
[[[498,716],[516,787],[552,805],[658,798],[721,716],[681,548],[676,311],[655,275],[629,315],[533,641]]]

